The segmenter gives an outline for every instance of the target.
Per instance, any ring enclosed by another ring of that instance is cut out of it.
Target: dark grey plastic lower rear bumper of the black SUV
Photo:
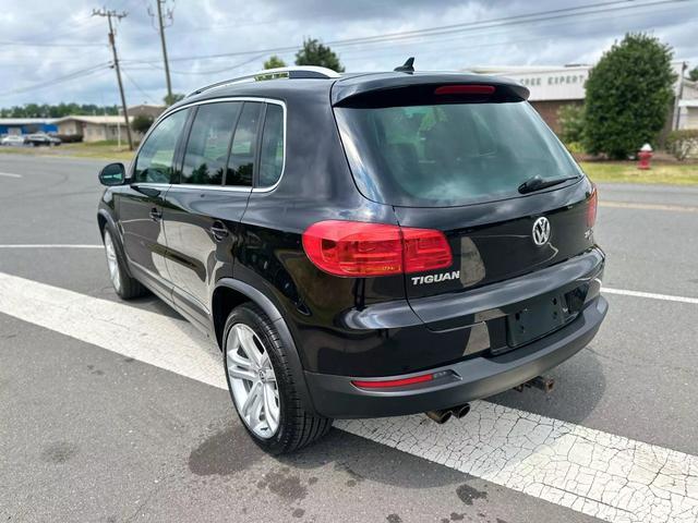
[[[305,379],[315,410],[328,417],[397,416],[447,409],[503,392],[559,365],[592,340],[607,307],[603,296],[598,296],[562,329],[498,356],[472,357],[425,370],[444,373],[443,378],[425,384],[375,391],[354,387],[351,380],[356,378],[347,376],[305,372]]]

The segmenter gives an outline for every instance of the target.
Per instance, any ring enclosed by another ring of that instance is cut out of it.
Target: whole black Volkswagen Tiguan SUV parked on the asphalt
[[[595,188],[527,97],[409,68],[196,90],[99,175],[116,291],[216,339],[269,452],[335,417],[462,415],[577,353],[607,308]]]

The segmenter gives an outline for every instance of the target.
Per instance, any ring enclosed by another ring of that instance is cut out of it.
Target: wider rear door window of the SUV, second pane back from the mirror
[[[220,185],[241,102],[204,104],[189,133],[180,183]]]

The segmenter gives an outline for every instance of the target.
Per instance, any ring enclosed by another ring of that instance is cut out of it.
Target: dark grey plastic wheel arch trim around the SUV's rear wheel
[[[305,384],[305,374],[298,348],[280,311],[263,292],[249,283],[233,278],[221,278],[218,280],[212,296],[210,313],[218,348],[222,350],[222,330],[228,315],[234,307],[245,302],[252,302],[262,308],[276,327],[284,342],[284,346],[288,348],[287,361],[293,376],[293,381],[298,387],[300,399],[303,402],[303,408],[309,412],[316,413]]]

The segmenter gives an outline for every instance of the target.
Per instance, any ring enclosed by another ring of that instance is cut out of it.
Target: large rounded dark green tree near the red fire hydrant
[[[589,72],[585,145],[592,154],[625,159],[657,143],[671,107],[672,50],[645,34],[627,34]]]

